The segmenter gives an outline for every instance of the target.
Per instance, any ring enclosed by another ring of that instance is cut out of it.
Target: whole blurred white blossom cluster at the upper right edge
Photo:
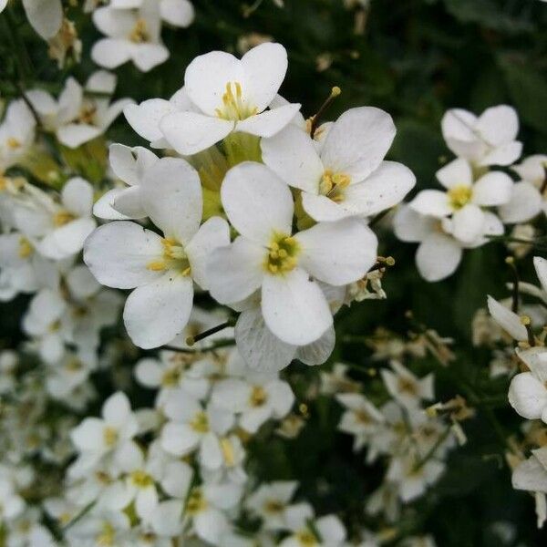
[[[502,235],[504,224],[530,239],[533,229],[524,223],[545,212],[547,196],[547,156],[516,163],[522,143],[514,108],[487,108],[479,117],[454,108],[444,115],[441,127],[456,155],[436,173],[443,189],[419,191],[393,221],[399,240],[419,243],[416,264],[430,282],[453,274],[465,249]]]

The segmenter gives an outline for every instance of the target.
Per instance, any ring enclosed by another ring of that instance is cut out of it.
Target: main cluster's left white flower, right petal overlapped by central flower
[[[124,322],[133,342],[148,348],[181,333],[191,313],[193,280],[207,288],[205,261],[212,249],[230,240],[221,218],[200,227],[200,179],[186,161],[157,161],[139,193],[163,237],[135,222],[110,222],[89,236],[84,260],[99,283],[135,289],[126,301]]]

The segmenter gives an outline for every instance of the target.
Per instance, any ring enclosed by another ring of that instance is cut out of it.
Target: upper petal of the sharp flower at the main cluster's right
[[[321,159],[326,169],[363,181],[380,165],[395,138],[391,116],[373,107],[350,108],[335,121]]]

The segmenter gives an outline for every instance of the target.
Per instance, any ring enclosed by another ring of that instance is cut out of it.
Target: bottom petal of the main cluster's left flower
[[[168,344],[188,323],[192,301],[191,279],[173,272],[136,288],[123,310],[133,343],[144,349]]]

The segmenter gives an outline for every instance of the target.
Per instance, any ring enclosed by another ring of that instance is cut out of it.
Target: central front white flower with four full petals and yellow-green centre
[[[315,280],[345,285],[360,279],[376,261],[376,236],[355,219],[319,223],[293,235],[291,191],[259,163],[232,168],[221,194],[241,235],[212,253],[212,296],[234,304],[260,288],[264,322],[272,333],[294,346],[314,342],[333,322]]]

